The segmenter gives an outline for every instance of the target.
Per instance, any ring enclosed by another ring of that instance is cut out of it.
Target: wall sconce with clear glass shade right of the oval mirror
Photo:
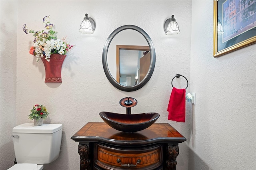
[[[164,31],[166,35],[180,34],[180,29],[174,15],[164,22]]]

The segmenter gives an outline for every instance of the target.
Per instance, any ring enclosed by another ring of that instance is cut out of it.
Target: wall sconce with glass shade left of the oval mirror
[[[80,25],[79,31],[83,34],[93,34],[95,30],[95,22],[92,18],[88,17],[88,14],[85,14],[84,20]]]

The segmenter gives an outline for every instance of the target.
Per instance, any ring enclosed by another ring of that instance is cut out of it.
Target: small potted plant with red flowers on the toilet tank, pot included
[[[28,115],[28,119],[34,119],[35,126],[41,126],[43,124],[43,119],[46,119],[49,115],[46,107],[43,105],[34,105],[33,109],[30,110],[30,115]]]

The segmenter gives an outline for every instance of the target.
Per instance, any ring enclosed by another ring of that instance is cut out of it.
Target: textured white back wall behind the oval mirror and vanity
[[[88,122],[102,122],[98,115],[100,111],[125,113],[124,107],[119,105],[119,100],[123,97],[134,97],[138,100],[138,105],[132,108],[132,113],[160,113],[157,123],[170,123],[189,138],[190,116],[187,116],[186,123],[176,123],[167,120],[166,110],[172,90],[172,78],[180,73],[190,79],[191,1],[14,1],[13,3],[18,7],[17,39],[13,40],[17,45],[14,49],[17,50],[17,110],[14,124],[30,123],[27,115],[34,104],[46,105],[50,117],[45,123],[63,124],[60,156],[44,169],[79,169],[78,143],[70,137]],[[84,35],[78,31],[85,13],[96,22],[96,30],[92,35]],[[178,36],[164,34],[164,21],[172,14],[175,15],[180,26],[181,34]],[[1,18],[8,15],[8,11],[3,12],[2,15],[1,10]],[[42,30],[44,26],[41,24],[42,18],[48,15],[55,25],[58,38],[67,36],[71,44],[76,44],[62,66],[63,83],[44,83],[43,63],[36,63],[35,58],[28,53],[33,41],[32,34],[27,35],[22,31],[24,24],[34,30]],[[2,24],[1,20],[1,27]],[[156,66],[152,78],[142,89],[134,92],[124,92],[113,87],[102,67],[102,50],[108,36],[116,28],[126,24],[136,25],[146,31],[156,49]],[[1,36],[2,34],[4,33],[1,30]],[[7,40],[8,38],[4,39]],[[9,48],[5,47],[1,50],[8,51]],[[1,56],[1,59],[2,57],[10,57],[10,55]],[[1,69],[2,67],[9,67],[9,63],[7,61],[1,63]],[[15,79],[15,76],[13,78]],[[184,87],[184,79],[180,81],[182,85],[177,85],[178,88]],[[3,103],[1,103],[2,107],[4,107]],[[1,110],[1,115],[8,117],[6,111],[7,108],[4,112]],[[13,123],[9,119],[6,121]],[[9,136],[15,125],[1,127],[1,131],[8,130],[4,136]],[[188,142],[179,146],[177,169],[188,169]],[[1,170],[9,168],[7,165],[11,166],[15,157],[13,146],[8,146],[6,150],[10,152],[6,152],[1,147],[1,154],[6,155],[1,159],[1,164],[5,162],[1,165]]]

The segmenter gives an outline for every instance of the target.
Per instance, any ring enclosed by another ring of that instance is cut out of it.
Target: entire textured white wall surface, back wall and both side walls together
[[[62,123],[64,127],[60,157],[44,169],[73,170],[79,169],[79,155],[78,144],[70,137],[87,122],[102,121],[100,111],[125,113],[118,102],[127,96],[138,100],[132,113],[158,112],[158,123],[170,123],[187,138],[179,145],[177,169],[256,168],[256,45],[214,58],[212,0],[145,2],[0,1],[1,170],[13,164],[15,156],[9,137],[14,126],[30,122],[27,115],[32,105],[45,104],[50,111],[46,123]],[[96,21],[92,35],[78,31],[85,13]],[[172,14],[181,34],[170,37],[165,36],[162,26]],[[32,35],[22,32],[25,23],[41,30],[46,15],[51,16],[59,38],[68,36],[70,43],[76,44],[64,61],[61,84],[44,83],[42,62],[36,63],[28,54]],[[152,78],[134,92],[115,89],[102,67],[106,39],[126,24],[145,30],[156,48]],[[15,53],[17,59],[12,58]],[[186,123],[167,120],[171,79],[177,73],[190,81],[187,91],[196,93],[192,115],[191,105],[187,106]]]

